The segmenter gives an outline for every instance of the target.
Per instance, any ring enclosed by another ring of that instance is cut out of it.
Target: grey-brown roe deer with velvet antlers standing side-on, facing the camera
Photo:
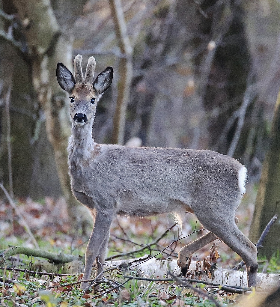
[[[103,270],[110,225],[116,215],[151,216],[191,212],[208,232],[183,247],[178,266],[187,271],[190,254],[217,237],[243,259],[248,286],[257,284],[257,249],[235,225],[235,212],[245,192],[246,168],[237,160],[210,150],[129,148],[96,144],[91,136],[96,104],[113,79],[107,67],[93,80],[95,59],[90,57],[85,78],[82,56],[74,60],[74,76],[57,64],[59,85],[70,95],[72,136],[68,164],[74,196],[92,212],[94,226],[87,244],[84,280]],[[81,289],[88,283],[83,282]]]

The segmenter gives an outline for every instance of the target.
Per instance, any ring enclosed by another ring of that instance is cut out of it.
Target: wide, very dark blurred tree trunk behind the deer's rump
[[[204,52],[200,52],[195,61],[199,67],[199,94],[208,118],[209,148],[229,154],[236,130],[237,117],[233,118],[233,114],[243,103],[251,68],[244,13],[239,2],[227,0],[206,0],[200,9],[207,18],[197,11],[200,35],[194,43]],[[243,127],[242,132],[247,135],[244,130]],[[242,156],[244,141],[238,138],[238,147],[230,153],[231,156]]]

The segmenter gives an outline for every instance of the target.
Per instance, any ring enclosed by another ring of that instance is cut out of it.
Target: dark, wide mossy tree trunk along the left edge
[[[2,9],[6,13],[12,14],[15,12],[15,8],[10,1],[3,1],[2,5]],[[7,33],[7,29],[11,28],[13,24],[13,20],[4,22],[1,18],[2,33]],[[30,101],[32,100],[30,69],[26,62],[18,55],[12,44],[1,40],[0,52],[0,93],[3,101],[5,101],[8,88],[12,86],[10,122],[14,194],[26,196],[29,191],[32,174],[33,153],[29,141],[33,134],[33,115],[35,113],[34,105]],[[9,190],[6,112],[5,108],[2,108],[2,110],[0,116],[0,180],[4,182],[7,190]]]

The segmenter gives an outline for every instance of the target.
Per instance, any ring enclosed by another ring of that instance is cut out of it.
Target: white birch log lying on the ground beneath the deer
[[[181,270],[177,266],[177,260],[160,260],[156,258],[149,259],[149,255],[129,260],[117,260],[106,262],[107,266],[122,266],[129,264],[130,270],[137,270],[138,274],[146,278],[170,278],[168,271],[172,271],[175,275],[180,274]],[[168,268],[169,267],[169,268]],[[192,261],[190,270],[195,270],[196,261]],[[220,285],[242,286],[247,287],[246,271],[231,271],[218,267],[212,274],[212,278],[208,278],[205,274],[202,280],[217,283]],[[280,274],[262,274],[258,273],[258,287],[262,289],[280,286]]]

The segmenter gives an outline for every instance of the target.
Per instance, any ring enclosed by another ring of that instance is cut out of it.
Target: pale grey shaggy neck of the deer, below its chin
[[[83,126],[77,126],[72,123],[72,135],[69,138],[68,144],[68,164],[70,172],[76,169],[83,168],[95,158],[98,154],[96,146],[91,133],[92,123],[89,122]]]

